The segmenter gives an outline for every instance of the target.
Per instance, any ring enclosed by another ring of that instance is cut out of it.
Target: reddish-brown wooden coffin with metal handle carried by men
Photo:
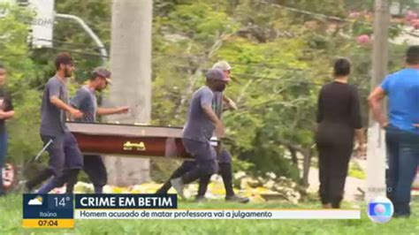
[[[85,155],[192,159],[183,147],[180,127],[72,122],[67,126]]]

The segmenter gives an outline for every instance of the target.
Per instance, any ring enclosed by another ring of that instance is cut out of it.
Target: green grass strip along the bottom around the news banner
[[[344,203],[343,208],[355,205]],[[21,196],[0,198],[0,234],[417,234],[419,201],[415,201],[410,219],[392,219],[373,224],[362,208],[360,220],[76,220],[75,229],[21,228]],[[196,204],[180,202],[179,208],[317,208],[316,201],[300,205],[286,203],[250,203],[246,205],[210,201]]]

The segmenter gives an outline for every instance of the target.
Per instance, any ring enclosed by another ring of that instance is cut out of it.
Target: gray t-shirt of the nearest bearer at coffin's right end
[[[199,88],[192,95],[192,100],[187,112],[187,124],[183,128],[183,138],[206,142],[214,132],[214,125],[202,109],[205,105],[213,107],[214,93],[209,87]]]

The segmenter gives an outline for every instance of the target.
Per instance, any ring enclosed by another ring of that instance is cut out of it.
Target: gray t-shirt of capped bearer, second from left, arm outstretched
[[[83,113],[83,117],[76,118],[75,121],[94,123],[96,121],[97,98],[95,90],[87,86],[81,87],[76,95],[72,97],[70,104]]]

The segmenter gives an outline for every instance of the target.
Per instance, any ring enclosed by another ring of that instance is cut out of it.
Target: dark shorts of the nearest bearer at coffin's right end
[[[187,152],[194,156],[195,166],[204,174],[218,171],[216,150],[208,142],[183,139]]]

